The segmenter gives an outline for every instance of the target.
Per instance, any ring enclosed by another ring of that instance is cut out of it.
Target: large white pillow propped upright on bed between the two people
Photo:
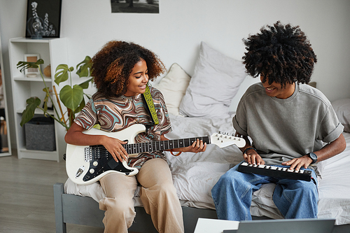
[[[232,98],[244,78],[246,69],[241,61],[202,42],[195,72],[180,104],[180,113],[189,117],[230,117]]]

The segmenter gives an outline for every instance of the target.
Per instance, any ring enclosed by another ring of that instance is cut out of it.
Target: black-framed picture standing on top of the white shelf
[[[27,0],[26,38],[33,34],[35,21],[43,25],[43,38],[59,38],[61,31],[62,0]]]

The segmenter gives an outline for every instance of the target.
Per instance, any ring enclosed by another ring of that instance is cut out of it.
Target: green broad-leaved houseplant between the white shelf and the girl
[[[91,70],[90,61],[91,61],[91,57],[86,56],[83,62],[80,62],[79,64],[76,65],[76,69],[77,69],[76,74],[78,74],[79,78],[88,77],[88,79],[85,80],[83,83],[72,86],[71,84],[72,82],[70,81],[69,85],[65,85],[60,90],[59,98],[56,92],[55,85],[53,86],[57,104],[59,106],[59,112],[57,111],[55,104],[52,104],[52,107],[57,117],[55,117],[55,115],[48,113],[47,105],[44,104],[43,108],[40,107],[41,100],[38,97],[30,97],[29,99],[27,99],[27,106],[25,110],[22,112],[22,120],[20,122],[20,125],[23,127],[25,123],[29,122],[29,120],[31,120],[31,118],[34,117],[36,108],[39,108],[43,111],[43,114],[45,116],[49,116],[53,120],[56,120],[66,130],[68,130],[69,127],[71,127],[71,124],[73,123],[76,113],[80,112],[80,110],[85,106],[84,95],[90,99],[90,95],[85,94],[83,92],[83,89],[87,89],[87,87],[89,87],[89,83],[92,82],[93,80],[92,77],[90,76],[90,70]],[[37,62],[18,62],[17,68],[20,69],[20,72],[28,68],[37,68],[39,73],[41,74],[41,78],[43,79],[43,84],[45,85],[45,88],[43,89],[43,91],[46,92],[48,99],[50,99],[50,101],[54,103],[54,101],[52,101],[52,95],[50,94],[50,90],[48,89],[48,86],[45,83],[43,73],[41,73],[41,69],[40,69],[41,64],[43,64],[43,59],[38,59]],[[66,64],[59,64],[56,68],[55,83],[59,85],[59,83],[62,83],[68,79],[71,80],[71,72],[73,70],[74,70],[73,66],[69,67]],[[65,113],[62,111],[61,102],[67,108],[67,111]],[[64,118],[65,115],[67,115],[67,118]]]

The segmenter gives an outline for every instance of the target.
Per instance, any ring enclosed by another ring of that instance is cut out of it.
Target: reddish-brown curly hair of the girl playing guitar
[[[137,62],[144,59],[148,80],[166,71],[164,64],[150,50],[125,41],[109,41],[92,57],[94,83],[106,97],[119,97],[127,91],[129,76]]]

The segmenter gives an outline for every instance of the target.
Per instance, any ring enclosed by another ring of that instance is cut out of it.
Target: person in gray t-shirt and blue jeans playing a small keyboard
[[[218,218],[251,220],[252,193],[264,183],[276,184],[273,200],[284,218],[317,218],[317,176],[311,164],[341,153],[346,142],[330,101],[305,84],[316,55],[299,27],[281,22],[262,27],[244,43],[246,70],[260,76],[261,83],[248,87],[232,120],[236,136],[246,139],[243,159],[291,171],[309,169],[312,181],[244,174],[237,165],[211,190]]]

